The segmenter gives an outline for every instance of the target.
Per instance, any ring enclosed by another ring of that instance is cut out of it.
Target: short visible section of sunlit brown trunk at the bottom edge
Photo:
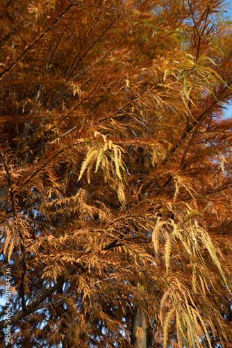
[[[146,319],[138,306],[135,306],[133,310],[131,343],[134,348],[147,348]]]

